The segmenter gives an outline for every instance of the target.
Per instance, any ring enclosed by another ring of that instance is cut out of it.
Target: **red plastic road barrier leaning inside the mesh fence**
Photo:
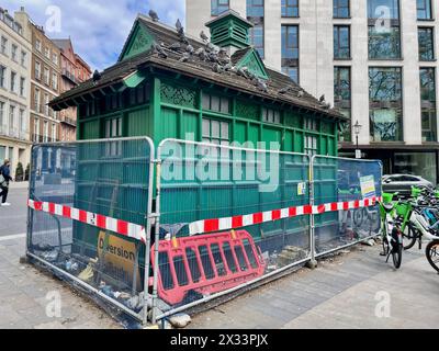
[[[158,294],[171,305],[182,303],[190,292],[205,296],[238,286],[266,270],[246,230],[161,240],[158,252]],[[154,254],[153,247],[153,267]]]

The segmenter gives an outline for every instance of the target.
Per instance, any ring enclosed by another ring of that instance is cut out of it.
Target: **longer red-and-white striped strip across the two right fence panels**
[[[285,218],[293,218],[303,215],[312,215],[312,214],[319,215],[328,212],[349,211],[356,208],[370,207],[374,206],[378,201],[381,201],[381,197],[371,197],[371,199],[349,201],[349,202],[336,202],[318,206],[305,205],[297,207],[288,207],[288,208],[272,210],[244,216],[198,220],[189,225],[189,234],[196,235],[196,234],[205,234],[213,231],[238,229],[246,226],[274,222]]]

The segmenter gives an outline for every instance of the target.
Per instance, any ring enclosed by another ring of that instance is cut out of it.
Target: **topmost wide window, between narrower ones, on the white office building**
[[[369,58],[401,58],[399,1],[368,0]]]

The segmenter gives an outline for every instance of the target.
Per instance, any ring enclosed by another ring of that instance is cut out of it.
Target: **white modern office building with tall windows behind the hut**
[[[363,156],[385,173],[438,179],[439,2],[434,0],[187,0],[187,31],[233,9],[254,23],[267,66],[325,94],[351,117],[340,155]]]

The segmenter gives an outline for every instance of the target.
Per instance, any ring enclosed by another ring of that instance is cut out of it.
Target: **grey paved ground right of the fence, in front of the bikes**
[[[192,329],[437,328],[439,275],[423,251],[394,270],[380,246],[357,246],[195,316]]]

